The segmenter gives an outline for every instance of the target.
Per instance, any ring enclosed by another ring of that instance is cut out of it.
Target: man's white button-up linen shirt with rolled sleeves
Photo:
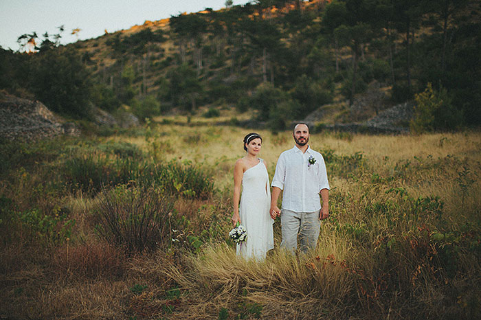
[[[308,166],[311,156],[314,157],[315,163]],[[320,210],[319,192],[322,189],[329,189],[324,158],[309,146],[305,153],[297,146],[282,152],[271,185],[283,190],[283,209],[293,212]]]

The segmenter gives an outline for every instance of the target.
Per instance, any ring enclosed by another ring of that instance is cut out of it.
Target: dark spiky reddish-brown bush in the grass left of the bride
[[[97,231],[128,252],[164,247],[170,241],[173,200],[155,187],[120,185],[100,194]]]

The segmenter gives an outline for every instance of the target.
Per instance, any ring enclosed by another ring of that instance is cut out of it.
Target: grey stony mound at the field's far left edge
[[[0,138],[36,140],[58,135],[80,135],[77,126],[64,122],[38,101],[3,95],[0,100]]]

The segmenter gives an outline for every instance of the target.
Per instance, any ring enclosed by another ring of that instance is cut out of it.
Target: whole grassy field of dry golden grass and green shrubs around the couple
[[[155,119],[0,148],[1,319],[472,319],[481,134],[316,133],[331,216],[308,255],[238,260],[232,171],[250,130]],[[228,121],[228,119],[226,119]],[[291,133],[261,130],[273,176]]]

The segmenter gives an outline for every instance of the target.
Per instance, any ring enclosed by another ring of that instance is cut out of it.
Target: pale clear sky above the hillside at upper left
[[[234,5],[249,0],[234,0]],[[17,51],[16,39],[36,32],[58,33],[64,25],[61,43],[71,43],[77,37],[71,31],[80,28],[79,40],[96,38],[104,30],[115,32],[178,15],[198,12],[205,8],[219,10],[225,0],[0,0],[0,46]]]

